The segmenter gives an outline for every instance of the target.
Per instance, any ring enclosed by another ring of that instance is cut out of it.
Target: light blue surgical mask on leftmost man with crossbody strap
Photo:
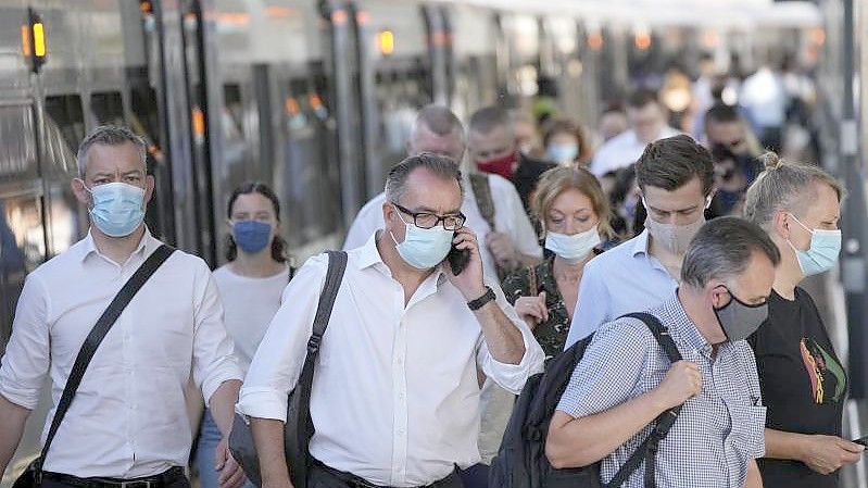
[[[81,182],[84,185],[84,182]],[[133,234],[144,220],[144,190],[126,183],[106,183],[88,188],[93,200],[90,220],[110,237]]]

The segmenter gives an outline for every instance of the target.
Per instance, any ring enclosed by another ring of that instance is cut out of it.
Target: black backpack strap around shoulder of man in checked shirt
[[[669,335],[669,330],[661,324],[657,317],[646,312],[628,313],[624,316],[642,321],[652,334],[654,334],[654,338],[657,339],[657,343],[661,345],[666,356],[669,358],[669,362],[677,363],[681,361],[681,353],[678,352],[678,347],[676,347],[672,337]],[[620,470],[615,473],[615,476],[608,481],[606,488],[617,488],[621,486],[630,475],[639,468],[642,461],[645,462],[644,486],[645,488],[655,488],[654,475],[657,464],[657,449],[659,449],[661,441],[669,434],[669,429],[672,428],[672,424],[675,424],[680,412],[681,405],[678,405],[657,416],[654,421],[655,425],[651,435],[639,446],[639,449],[630,455]]]

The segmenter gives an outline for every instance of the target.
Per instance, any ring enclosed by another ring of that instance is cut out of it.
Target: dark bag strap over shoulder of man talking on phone
[[[319,345],[323,341],[323,335],[328,327],[328,321],[331,317],[331,309],[335,306],[335,299],[338,297],[341,281],[343,280],[343,272],[347,270],[347,253],[343,251],[327,251],[328,253],[328,271],[326,272],[326,283],[323,286],[323,291],[319,293],[319,303],[316,306],[316,315],[314,315],[313,330],[311,338],[307,340],[307,354],[304,358],[304,365],[299,376],[299,383],[295,391],[299,397],[299,427],[295,430],[298,436],[298,446],[303,450],[307,462],[310,463],[310,452],[307,445],[311,442],[313,436],[313,420],[311,418],[311,390],[313,389],[314,380],[314,363],[317,355],[319,355]],[[306,466],[292,466],[295,471],[301,467],[306,470]],[[306,471],[304,473],[294,473],[293,476],[301,483],[307,479]],[[298,486],[299,484],[297,484]]]

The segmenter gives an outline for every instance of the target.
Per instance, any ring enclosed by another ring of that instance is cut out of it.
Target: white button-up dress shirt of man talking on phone
[[[286,421],[328,259],[311,258],[284,293],[250,365],[237,410]],[[543,352],[496,285],[496,303],[521,331],[518,364],[498,362],[466,300],[440,271],[404,305],[376,238],[349,251],[349,262],[319,350],[311,396],[316,429],[311,454],[385,486],[425,486],[455,464],[479,461],[477,368],[518,392],[542,371]]]

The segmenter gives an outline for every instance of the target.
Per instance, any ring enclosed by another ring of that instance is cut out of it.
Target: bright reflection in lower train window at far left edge
[[[35,195],[0,198],[0,355],[12,331],[24,276],[46,255],[41,209]]]

